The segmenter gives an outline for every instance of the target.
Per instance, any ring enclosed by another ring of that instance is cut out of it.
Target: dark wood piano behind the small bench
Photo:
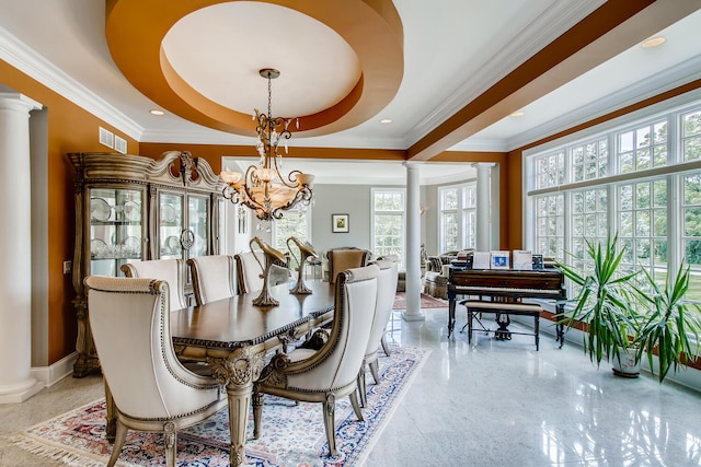
[[[478,296],[480,300],[517,302],[521,299],[548,299],[556,301],[555,314],[564,310],[567,299],[564,277],[556,269],[467,269],[451,266],[448,277],[448,337],[456,325],[458,295]],[[558,325],[558,341],[564,343],[564,326]]]

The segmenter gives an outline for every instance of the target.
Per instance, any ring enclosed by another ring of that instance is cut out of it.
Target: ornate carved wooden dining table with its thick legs
[[[211,375],[226,387],[231,434],[230,465],[245,464],[246,422],[253,383],[261,375],[265,355],[306,336],[333,319],[334,285],[306,281],[308,294],[291,293],[295,282],[269,288],[275,306],[258,306],[254,291],[203,305],[172,311],[170,328],[173,348],[186,363],[206,363]],[[110,388],[107,440],[116,433],[116,411]]]

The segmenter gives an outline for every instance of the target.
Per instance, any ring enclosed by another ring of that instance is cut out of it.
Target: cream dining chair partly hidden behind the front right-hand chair
[[[394,297],[397,295],[397,282],[399,280],[399,271],[397,262],[391,259],[378,259],[371,264],[377,265],[380,271],[377,276],[377,301],[375,305],[375,319],[370,328],[368,346],[365,350],[365,358],[358,373],[358,392],[360,393],[360,405],[367,404],[367,393],[365,384],[366,365],[370,367],[375,384],[380,384],[380,371],[378,364],[378,350],[382,346],[382,350],[387,355],[390,354],[389,347],[386,341],[387,324],[392,315]]]

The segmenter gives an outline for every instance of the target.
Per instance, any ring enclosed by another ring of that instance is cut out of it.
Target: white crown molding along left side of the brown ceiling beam
[[[577,22],[589,15],[606,0],[586,2],[555,1],[541,15],[502,48],[487,63],[476,67],[476,72],[462,82],[457,90],[429,112],[411,131],[413,138],[406,147],[416,143],[447,118],[455,115],[467,103],[472,102],[495,82],[499,81],[524,63],[537,51],[555,40]]]

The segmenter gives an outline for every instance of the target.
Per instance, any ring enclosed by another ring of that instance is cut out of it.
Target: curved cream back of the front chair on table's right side
[[[327,342],[309,359],[289,366],[287,388],[327,392],[355,385],[375,317],[379,268],[370,265],[338,275]]]

